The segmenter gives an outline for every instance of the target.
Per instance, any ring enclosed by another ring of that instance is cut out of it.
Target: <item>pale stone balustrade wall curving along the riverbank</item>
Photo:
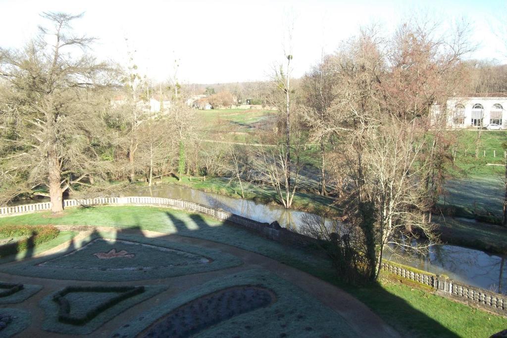
[[[308,246],[318,244],[318,240],[308,237],[285,228],[281,228],[278,223],[261,223],[248,218],[226,212],[222,209],[215,209],[207,205],[194,203],[182,199],[164,198],[164,197],[99,197],[89,199],[67,199],[63,201],[63,206],[93,206],[93,205],[152,205],[168,206],[177,209],[184,209],[190,212],[196,212],[211,216],[215,219],[231,222],[236,226],[241,226],[262,236],[286,244],[296,244],[298,246]],[[15,216],[29,213],[41,212],[51,209],[51,202],[24,204],[16,206],[0,207],[0,217]],[[479,306],[485,310],[507,316],[507,296],[492,291],[484,290],[475,286],[460,283],[447,278],[438,276],[429,272],[411,270],[408,267],[398,266],[390,261],[382,262],[382,269],[396,276],[407,278],[424,285],[432,287],[438,294],[470,305]]]

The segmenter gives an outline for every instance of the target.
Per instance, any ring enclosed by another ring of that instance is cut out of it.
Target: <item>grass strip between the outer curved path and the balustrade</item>
[[[150,207],[97,207],[70,209],[62,217],[44,214],[0,219],[4,224],[83,224],[116,226],[178,233],[237,246],[284,262],[343,287],[367,304],[387,323],[404,335],[415,336],[489,336],[507,326],[507,319],[457,304],[411,285],[384,280],[379,285],[352,287],[338,280],[329,261],[307,252],[265,240],[245,230],[184,212]]]

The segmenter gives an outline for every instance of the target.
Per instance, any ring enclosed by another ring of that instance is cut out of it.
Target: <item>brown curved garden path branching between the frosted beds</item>
[[[63,227],[61,227],[63,228]],[[73,227],[74,229],[76,227]],[[78,235],[79,237],[75,237],[74,240],[85,238],[90,232],[92,227],[79,227],[82,232]],[[109,227],[94,227],[98,231],[104,232],[116,232],[116,228]],[[129,319],[135,318],[140,313],[149,310],[156,306],[159,303],[162,303],[169,298],[171,298],[174,294],[185,291],[191,287],[200,285],[208,280],[213,278],[220,277],[222,275],[231,274],[234,272],[250,270],[255,268],[261,268],[265,270],[269,270],[273,274],[278,275],[279,277],[288,280],[289,282],[297,285],[308,294],[312,295],[312,297],[316,298],[323,304],[327,305],[329,308],[336,311],[340,316],[342,316],[347,323],[356,331],[359,336],[364,337],[399,337],[400,334],[397,333],[393,328],[388,326],[383,322],[383,320],[378,317],[375,313],[373,313],[366,305],[359,302],[357,299],[353,298],[347,292],[341,290],[340,288],[331,285],[321,279],[318,279],[314,276],[311,276],[303,271],[298,269],[289,267],[285,264],[277,262],[273,259],[267,258],[265,256],[255,254],[251,251],[243,250],[234,246],[221,244],[209,240],[197,239],[191,237],[184,237],[179,235],[168,235],[165,233],[159,233],[154,231],[147,230],[133,230],[133,229],[121,229],[122,234],[138,234],[143,237],[157,237],[159,239],[164,239],[168,241],[174,241],[179,243],[186,243],[192,245],[198,245],[206,248],[219,249],[221,251],[227,252],[228,254],[237,256],[241,258],[244,262],[243,265],[238,267],[211,271],[205,273],[198,273],[192,275],[178,276],[178,277],[170,277],[163,279],[149,279],[149,280],[136,280],[136,281],[122,281],[122,282],[106,282],[108,285],[150,285],[150,284],[166,284],[169,285],[169,288],[156,295],[155,297],[143,301],[136,306],[130,308],[129,310],[123,312],[119,316],[113,318],[109,322],[105,323],[101,327],[99,327],[96,331],[91,333],[89,336],[94,337],[108,337],[111,335],[113,331],[115,331],[118,327],[124,324]],[[35,256],[34,258],[46,256],[50,253],[57,252],[59,250],[63,250],[68,247],[68,242],[63,243],[55,248],[52,248],[48,251],[45,251],[43,254]],[[34,259],[32,258],[32,259]],[[8,263],[8,264],[16,264],[17,262]],[[41,309],[38,304],[40,300],[51,292],[57,291],[69,284],[68,280],[59,280],[59,279],[45,279],[45,278],[35,278],[35,277],[25,277],[25,276],[17,276],[10,275],[6,273],[0,273],[0,279],[5,282],[17,282],[17,283],[25,283],[25,284],[39,284],[43,286],[43,289],[27,299],[26,301],[19,304],[9,304],[2,307],[9,308],[21,308],[28,310],[32,315],[32,322],[30,327],[21,332],[18,336],[26,337],[26,336],[41,336],[45,337],[70,337],[72,335],[51,333],[46,331],[41,331],[42,323],[44,320],[44,311]],[[72,281],[73,285],[92,285],[96,284],[96,281]],[[104,282],[105,283],[105,282]],[[82,335],[80,335],[82,336]]]

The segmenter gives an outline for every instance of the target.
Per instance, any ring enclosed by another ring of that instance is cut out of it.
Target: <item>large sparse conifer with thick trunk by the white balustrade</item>
[[[104,175],[95,145],[106,102],[92,98],[107,86],[111,69],[83,52],[94,38],[71,33],[71,21],[82,14],[42,17],[51,28],[39,27],[22,50],[0,50],[0,75],[8,83],[0,98],[0,165],[2,186],[10,187],[3,201],[46,186],[58,213],[71,185]]]

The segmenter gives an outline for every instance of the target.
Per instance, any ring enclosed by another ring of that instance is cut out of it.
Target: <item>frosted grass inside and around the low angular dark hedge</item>
[[[164,285],[149,285],[144,286],[144,292],[136,294],[131,298],[121,301],[120,303],[100,312],[96,317],[84,325],[72,325],[62,323],[58,320],[58,304],[53,301],[53,296],[56,292],[47,295],[41,300],[39,305],[44,309],[46,314],[43,329],[50,332],[64,333],[64,334],[89,334],[100,327],[107,321],[110,321],[118,314],[130,309],[134,305],[154,297],[156,294],[164,291],[167,287]],[[74,313],[85,313],[97,303],[103,302],[107,299],[104,292],[86,292],[86,297],[83,297],[82,292],[76,292],[69,298],[71,311]]]

